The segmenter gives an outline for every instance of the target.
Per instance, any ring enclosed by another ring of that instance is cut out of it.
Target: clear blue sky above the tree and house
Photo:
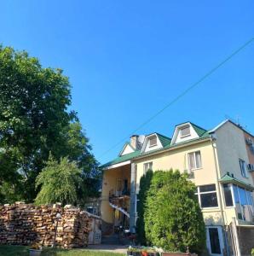
[[[253,1],[2,1],[0,42],[61,67],[95,157],[254,36]],[[254,131],[254,44],[143,127],[171,137],[225,115]],[[101,156],[101,157],[100,157]]]

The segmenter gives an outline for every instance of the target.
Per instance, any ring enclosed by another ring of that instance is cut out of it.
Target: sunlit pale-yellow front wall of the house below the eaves
[[[220,206],[220,196],[218,192],[218,186],[216,183],[216,164],[214,159],[213,148],[211,146],[211,141],[202,141],[193,145],[184,146],[182,148],[173,148],[162,154],[154,154],[147,156],[146,158],[141,158],[139,160],[134,160],[136,163],[137,179],[136,188],[137,193],[139,191],[139,181],[142,177],[143,164],[153,161],[153,171],[163,170],[167,171],[172,168],[173,170],[179,170],[184,172],[188,169],[188,153],[200,150],[202,168],[194,170],[194,178],[191,179],[196,186],[205,184],[216,184],[217,200]],[[215,208],[205,208],[202,210],[205,219],[205,224],[222,224],[222,212],[220,207]]]

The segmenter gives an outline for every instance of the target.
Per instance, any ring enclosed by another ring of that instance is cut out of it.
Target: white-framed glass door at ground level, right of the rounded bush
[[[214,256],[223,255],[222,227],[206,227],[206,243],[209,253]]]

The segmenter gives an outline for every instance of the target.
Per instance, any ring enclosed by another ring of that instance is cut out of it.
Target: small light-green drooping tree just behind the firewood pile
[[[47,165],[36,179],[36,186],[41,186],[35,202],[36,204],[50,204],[61,202],[63,205],[77,202],[77,188],[81,183],[81,170],[75,162],[66,157],[60,162],[49,156]]]

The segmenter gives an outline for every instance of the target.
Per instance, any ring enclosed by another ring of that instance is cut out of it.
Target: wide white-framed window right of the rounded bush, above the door
[[[215,184],[199,186],[196,195],[198,195],[200,207],[218,207]]]

